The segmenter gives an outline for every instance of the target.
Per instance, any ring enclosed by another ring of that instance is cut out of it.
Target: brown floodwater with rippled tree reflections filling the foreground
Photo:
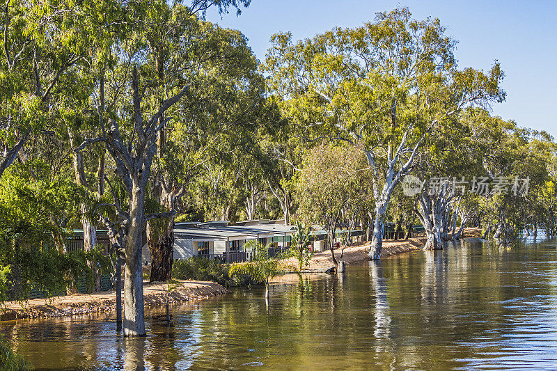
[[[260,289],[148,309],[147,338],[113,316],[0,324],[38,369],[557,369],[557,242],[476,241],[289,276]]]

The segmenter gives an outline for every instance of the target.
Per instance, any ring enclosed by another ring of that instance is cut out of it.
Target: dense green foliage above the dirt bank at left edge
[[[0,302],[24,300],[33,288],[57,295],[81,277],[92,290],[91,267],[106,273],[109,258],[97,250],[63,252],[66,228],[79,220],[81,187],[29,182],[16,170],[4,174],[0,187]]]

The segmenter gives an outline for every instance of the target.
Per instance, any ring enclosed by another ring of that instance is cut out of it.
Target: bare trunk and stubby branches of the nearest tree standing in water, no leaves
[[[143,267],[141,252],[143,249],[143,229],[145,223],[151,219],[170,217],[173,213],[145,214],[145,192],[149,181],[152,159],[157,152],[157,134],[162,129],[158,125],[159,117],[173,104],[178,102],[187,92],[189,86],[184,86],[179,93],[164,100],[158,111],[149,119],[143,120],[139,77],[134,65],[132,70],[132,96],[134,113],[134,134],[131,141],[123,138],[118,128],[118,122],[111,120],[109,128],[103,136],[96,139],[86,139],[75,152],[83,150],[91,143],[105,143],[111,155],[116,172],[129,198],[126,210],[120,205],[120,200],[113,187],[113,207],[118,215],[118,227],[100,214],[100,219],[109,228],[113,237],[125,240],[125,269],[124,269],[124,335],[145,336],[145,317],[143,313]],[[134,150],[132,150],[134,148]]]

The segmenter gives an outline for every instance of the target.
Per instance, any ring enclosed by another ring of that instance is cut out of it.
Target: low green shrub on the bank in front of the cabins
[[[230,285],[228,265],[199,256],[175,260],[172,277],[177,280],[213,281],[223,286]]]

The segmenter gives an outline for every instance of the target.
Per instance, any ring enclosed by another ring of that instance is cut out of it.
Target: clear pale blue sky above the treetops
[[[557,1],[308,1],[252,0],[237,17],[207,13],[221,26],[239,29],[262,60],[269,38],[291,31],[295,40],[334,26],[354,27],[375,13],[408,6],[416,19],[438,17],[458,40],[461,68],[489,70],[498,59],[505,72],[507,100],[493,113],[521,127],[545,130],[557,138]]]

